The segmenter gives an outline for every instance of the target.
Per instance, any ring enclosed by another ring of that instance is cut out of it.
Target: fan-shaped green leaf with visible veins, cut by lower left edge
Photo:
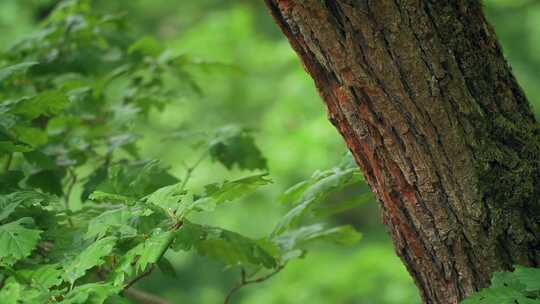
[[[31,218],[25,217],[0,226],[0,261],[4,258],[23,259],[32,253],[42,232],[25,227],[33,223]]]

